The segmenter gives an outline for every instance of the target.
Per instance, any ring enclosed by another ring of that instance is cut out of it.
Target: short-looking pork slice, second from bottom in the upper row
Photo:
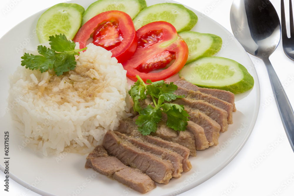
[[[209,142],[206,138],[203,127],[193,121],[188,121],[186,131],[194,135],[196,150],[204,150],[209,147]]]

